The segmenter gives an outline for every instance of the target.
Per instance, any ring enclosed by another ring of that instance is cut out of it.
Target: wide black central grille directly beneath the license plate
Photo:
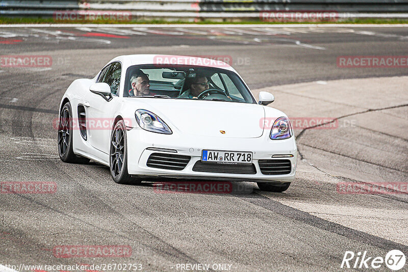
[[[201,162],[198,160],[194,167],[195,172],[226,173],[226,174],[257,174],[253,164],[251,165],[227,165],[212,164],[211,162]]]

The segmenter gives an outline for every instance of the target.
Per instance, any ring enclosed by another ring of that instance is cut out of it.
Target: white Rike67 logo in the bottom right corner
[[[397,271],[405,266],[405,255],[402,251],[391,250],[386,257],[373,257],[367,254],[367,251],[354,254],[352,251],[344,253],[340,268],[374,268],[378,269],[384,264],[391,270]]]

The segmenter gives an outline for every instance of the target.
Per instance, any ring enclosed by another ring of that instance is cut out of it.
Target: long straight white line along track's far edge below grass
[[[308,24],[1,24],[1,28],[408,28],[408,24],[353,24],[353,23],[308,23]]]

